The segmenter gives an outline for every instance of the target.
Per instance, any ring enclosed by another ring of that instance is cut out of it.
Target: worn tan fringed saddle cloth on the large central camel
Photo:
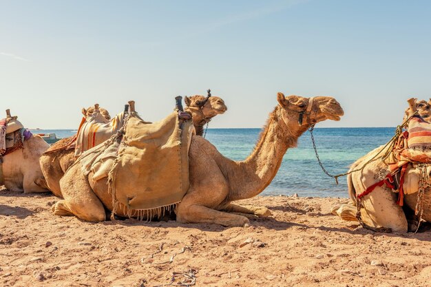
[[[92,180],[108,177],[113,213],[121,206],[129,216],[160,214],[178,204],[189,189],[192,132],[192,120],[181,120],[176,112],[158,123],[146,123],[133,112],[121,143],[109,140],[109,145],[90,149],[78,160],[84,174],[93,172]]]

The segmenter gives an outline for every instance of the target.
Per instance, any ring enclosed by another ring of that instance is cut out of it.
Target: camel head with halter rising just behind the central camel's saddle
[[[204,125],[209,123],[211,118],[227,111],[224,100],[218,96],[186,96],[184,100],[187,106],[185,110],[190,111],[191,116],[193,116],[193,125],[197,136],[203,135]]]

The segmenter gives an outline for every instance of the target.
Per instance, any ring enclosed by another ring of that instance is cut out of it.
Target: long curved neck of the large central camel
[[[229,175],[229,200],[252,198],[261,193],[280,169],[287,149],[297,146],[297,139],[306,127],[297,131],[288,129],[288,125],[281,120],[283,112],[280,107],[275,108],[251,155],[237,162],[239,168]]]

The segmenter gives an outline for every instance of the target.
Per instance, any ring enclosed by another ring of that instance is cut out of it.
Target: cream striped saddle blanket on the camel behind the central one
[[[81,156],[84,151],[100,145],[116,134],[118,129],[123,127],[124,118],[124,112],[114,116],[109,121],[98,112],[83,118],[76,134],[75,156]]]

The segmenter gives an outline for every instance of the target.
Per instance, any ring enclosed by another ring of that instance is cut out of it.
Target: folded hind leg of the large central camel
[[[75,164],[60,180],[60,187],[65,200],[54,206],[54,214],[67,212],[81,220],[101,222],[105,220],[105,208],[90,187],[87,178],[81,172],[81,165]]]

